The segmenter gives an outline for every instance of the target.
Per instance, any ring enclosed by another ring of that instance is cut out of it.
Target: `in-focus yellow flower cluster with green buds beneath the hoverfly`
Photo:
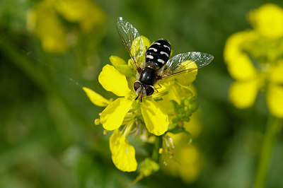
[[[143,41],[146,48],[151,45],[146,37],[143,37]],[[137,48],[137,45],[133,46]],[[145,51],[146,48],[139,49]],[[166,142],[164,138],[168,136],[165,133],[185,132],[184,122],[188,122],[192,112],[197,110],[195,98],[192,97],[187,86],[195,80],[197,70],[167,81],[160,81],[161,88],[150,97],[143,98],[141,102],[135,100],[137,95],[132,89],[137,79],[137,70],[132,67],[132,59],[126,62],[120,57],[111,56],[110,62],[112,65],[106,64],[103,67],[98,81],[105,90],[114,93],[118,98],[108,100],[90,88],[83,90],[94,105],[105,107],[95,124],[102,124],[107,131],[114,130],[110,136],[110,151],[112,161],[119,170],[124,172],[137,170],[135,149],[129,144],[127,136],[131,135],[134,140],[154,145],[154,151],[147,152],[149,155],[151,153],[151,158],[145,156],[139,165],[140,175],[137,177],[139,180],[159,169],[160,153],[173,155],[172,151],[166,149],[171,147],[173,142]],[[184,78],[185,86],[178,81]]]

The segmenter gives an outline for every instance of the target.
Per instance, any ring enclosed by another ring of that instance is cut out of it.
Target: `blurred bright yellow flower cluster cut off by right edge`
[[[253,29],[226,41],[224,59],[236,80],[229,98],[238,108],[253,105],[258,90],[266,91],[267,106],[283,117],[283,9],[265,4],[248,14]]]

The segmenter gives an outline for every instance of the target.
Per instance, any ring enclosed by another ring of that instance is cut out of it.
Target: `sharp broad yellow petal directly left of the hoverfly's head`
[[[128,87],[126,76],[120,74],[114,66],[105,65],[98,76],[98,81],[105,88],[117,96],[129,95],[131,90]]]

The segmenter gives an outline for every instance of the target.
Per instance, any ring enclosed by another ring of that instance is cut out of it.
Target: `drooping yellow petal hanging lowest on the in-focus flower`
[[[117,169],[122,170],[123,172],[132,172],[137,170],[137,160],[134,157],[134,147],[129,144],[124,136],[122,136],[119,129],[116,129],[113,132],[109,141],[112,161]]]

